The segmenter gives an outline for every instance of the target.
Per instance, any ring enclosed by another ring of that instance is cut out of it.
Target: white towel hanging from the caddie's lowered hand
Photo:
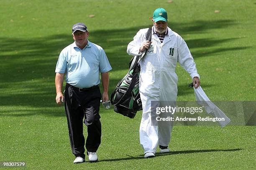
[[[213,102],[205,94],[204,90],[202,90],[201,86],[195,88],[195,97],[197,100],[197,104],[202,105],[205,108],[205,111],[208,114],[211,114],[213,117],[224,118],[225,121],[218,121],[219,125],[223,128],[225,125],[228,125],[230,119],[225,115],[223,111],[219,109]]]

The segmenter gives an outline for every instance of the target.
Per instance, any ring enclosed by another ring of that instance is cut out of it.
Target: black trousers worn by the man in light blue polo
[[[77,88],[67,84],[64,92],[65,111],[69,128],[69,139],[72,153],[85,158],[83,119],[87,126],[85,147],[88,152],[96,152],[100,146],[100,88],[80,92]]]

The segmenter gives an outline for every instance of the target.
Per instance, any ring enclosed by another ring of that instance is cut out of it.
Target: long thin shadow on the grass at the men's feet
[[[171,151],[169,153],[156,153],[156,157],[159,156],[166,156],[166,155],[176,155],[176,154],[189,154],[189,153],[208,153],[208,152],[233,152],[243,150],[241,148],[236,149],[210,149],[210,150],[181,150],[181,151]],[[144,155],[139,155],[137,157],[133,157],[127,155],[129,158],[118,158],[118,159],[106,159],[106,160],[99,160],[99,162],[114,162],[114,161],[121,161],[121,160],[137,160],[137,159],[145,159]]]

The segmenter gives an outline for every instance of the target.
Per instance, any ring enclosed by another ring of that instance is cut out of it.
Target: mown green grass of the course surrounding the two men
[[[64,107],[55,103],[59,52],[84,22],[113,70],[109,93],[128,71],[126,47],[164,7],[168,25],[187,42],[212,101],[256,100],[254,0],[2,0],[0,25],[0,161],[27,169],[254,169],[255,126],[174,126],[172,152],[143,159],[134,120],[101,108],[98,163],[73,165]],[[220,13],[215,13],[220,10]],[[95,15],[90,18],[89,15]],[[178,100],[195,100],[189,75],[178,65]],[[84,128],[86,136],[86,128]]]

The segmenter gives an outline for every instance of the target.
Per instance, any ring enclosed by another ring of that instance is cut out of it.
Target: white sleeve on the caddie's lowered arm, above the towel
[[[194,59],[189,51],[189,48],[187,47],[187,44],[182,37],[180,37],[180,39],[181,41],[178,46],[178,62],[192,78],[198,77],[200,79]]]

